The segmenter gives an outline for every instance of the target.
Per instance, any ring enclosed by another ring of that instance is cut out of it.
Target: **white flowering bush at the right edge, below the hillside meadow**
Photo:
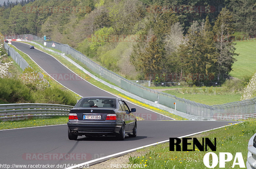
[[[244,88],[241,100],[252,99],[254,97],[256,97],[256,72],[252,76],[252,79],[249,81],[247,86]]]

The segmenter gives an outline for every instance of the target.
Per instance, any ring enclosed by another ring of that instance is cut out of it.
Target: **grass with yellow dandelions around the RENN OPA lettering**
[[[233,160],[236,152],[242,152],[244,163],[247,159],[248,141],[253,136],[256,130],[256,119],[247,119],[243,123],[225,126],[220,129],[214,129],[196,136],[200,143],[202,138],[208,137],[214,143],[216,138],[217,151],[214,151],[219,156],[220,152],[229,152],[233,155]],[[192,141],[188,141],[192,143]],[[193,149],[193,144],[188,147]],[[129,158],[130,164],[145,164],[148,169],[153,168],[207,168],[203,163],[204,155],[210,151],[169,151],[169,143],[158,144],[137,151],[140,156]],[[146,151],[146,153],[145,153]],[[143,153],[142,153],[143,152]],[[233,160],[226,162],[225,168],[231,168]],[[219,168],[219,164],[216,166]],[[239,165],[235,165],[239,168]]]

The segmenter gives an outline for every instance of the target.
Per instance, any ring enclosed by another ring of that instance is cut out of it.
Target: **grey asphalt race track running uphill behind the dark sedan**
[[[44,52],[29,49],[29,45],[24,43],[12,42],[12,44],[28,54],[48,74],[73,74]],[[58,81],[82,96],[113,96],[81,79],[59,79]],[[111,136],[78,136],[76,141],[68,140],[66,124],[0,130],[0,162],[11,166],[12,164],[49,164],[55,165],[57,168],[56,165],[66,164],[68,167],[68,164],[80,164],[121,151],[168,140],[170,137],[185,136],[231,123],[231,121],[158,121],[171,119],[132,103],[128,103],[128,105],[130,108],[136,108],[138,114],[149,114],[149,116],[145,116],[144,121],[138,121],[138,134],[135,138],[127,136],[124,141],[117,141],[115,137]],[[66,153],[68,155],[63,157]]]

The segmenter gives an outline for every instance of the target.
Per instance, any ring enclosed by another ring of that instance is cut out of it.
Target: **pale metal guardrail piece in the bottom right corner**
[[[251,137],[248,143],[246,167],[248,169],[256,168],[256,133]]]

